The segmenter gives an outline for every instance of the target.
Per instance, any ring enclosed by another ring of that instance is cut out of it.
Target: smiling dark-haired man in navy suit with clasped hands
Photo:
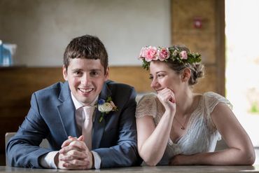
[[[136,92],[108,81],[102,41],[90,35],[73,39],[64,52],[63,76],[66,82],[32,95],[29,113],[6,147],[9,165],[59,169],[139,165]],[[43,139],[50,148],[38,146]]]

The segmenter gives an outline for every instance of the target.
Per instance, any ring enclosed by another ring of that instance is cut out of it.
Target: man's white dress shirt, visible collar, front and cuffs
[[[83,124],[83,118],[82,118],[82,109],[80,109],[83,105],[83,103],[78,102],[78,100],[76,99],[76,97],[73,96],[72,92],[71,92],[71,98],[73,101],[73,104],[76,108],[76,126],[78,128],[78,130],[80,130],[79,132],[82,132],[82,124]],[[94,104],[97,104],[97,100],[98,97],[96,97],[96,99],[94,99],[94,102],[92,102],[90,105],[94,106]],[[94,114],[92,119],[94,120]],[[57,165],[55,165],[55,155],[57,155],[59,151],[51,151],[50,153],[47,153],[45,155],[43,155],[40,159],[40,163],[42,167],[45,168],[55,168],[57,169]],[[95,151],[91,151],[92,155],[94,157],[94,168],[95,169],[99,169],[101,167],[101,157],[99,156],[99,154]]]

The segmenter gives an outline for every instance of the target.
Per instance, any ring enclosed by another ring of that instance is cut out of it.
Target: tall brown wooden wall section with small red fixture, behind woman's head
[[[196,92],[225,95],[225,1],[172,0],[172,44],[201,53],[205,76]]]

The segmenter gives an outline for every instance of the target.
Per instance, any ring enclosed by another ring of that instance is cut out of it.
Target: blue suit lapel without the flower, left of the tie
[[[69,85],[67,82],[65,82],[62,86],[59,100],[62,101],[62,104],[59,104],[59,106],[57,106],[57,109],[59,111],[59,117],[62,121],[66,137],[78,137],[75,120],[75,107],[73,106],[73,101],[71,99]]]

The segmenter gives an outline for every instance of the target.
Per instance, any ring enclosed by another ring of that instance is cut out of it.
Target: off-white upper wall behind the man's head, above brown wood
[[[0,0],[0,39],[18,44],[16,64],[61,66],[83,34],[104,42],[111,66],[140,65],[142,46],[170,44],[170,0]]]

